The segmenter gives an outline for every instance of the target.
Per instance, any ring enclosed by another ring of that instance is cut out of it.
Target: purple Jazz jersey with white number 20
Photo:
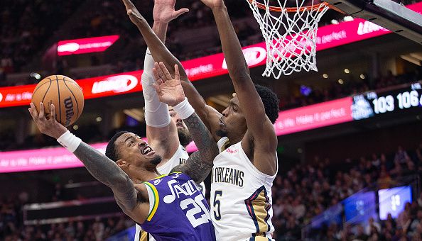
[[[210,207],[190,176],[171,173],[144,182],[150,212],[141,225],[157,241],[215,240]]]

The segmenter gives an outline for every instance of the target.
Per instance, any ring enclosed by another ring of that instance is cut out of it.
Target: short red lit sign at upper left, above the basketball
[[[119,35],[95,38],[79,38],[63,40],[57,44],[58,55],[79,55],[87,52],[103,52],[119,39]]]

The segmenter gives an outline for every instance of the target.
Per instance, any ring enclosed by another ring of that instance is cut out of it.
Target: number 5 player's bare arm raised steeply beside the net
[[[201,1],[209,6],[214,14],[227,69],[239,99],[240,108],[247,121],[248,130],[244,135],[243,140],[245,141],[242,142],[242,147],[249,157],[252,155],[259,157],[254,158],[253,161],[261,172],[272,175],[276,172],[276,133],[274,126],[265,114],[264,104],[249,76],[242,47],[234,32],[227,8],[223,0]]]

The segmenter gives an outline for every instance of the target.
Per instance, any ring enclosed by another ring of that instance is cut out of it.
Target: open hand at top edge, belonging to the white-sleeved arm
[[[154,2],[153,18],[157,23],[169,23],[183,13],[187,13],[189,9],[174,9],[175,0],[156,0]]]

